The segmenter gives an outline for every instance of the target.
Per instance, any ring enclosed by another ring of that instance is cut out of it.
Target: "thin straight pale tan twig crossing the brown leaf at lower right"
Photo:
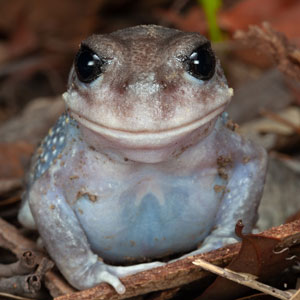
[[[226,269],[226,268],[223,269],[223,268],[215,266],[201,258],[193,261],[193,264],[196,266],[200,266],[204,270],[210,271],[210,272],[217,274],[219,276],[222,276],[226,279],[229,279],[229,280],[232,280],[239,284],[248,286],[252,289],[261,291],[267,295],[271,295],[278,299],[289,300],[293,296],[293,294],[291,292],[284,292],[282,290],[273,288],[269,285],[266,285],[264,283],[256,281],[253,278],[253,275],[251,275],[251,274],[238,273],[238,272]]]

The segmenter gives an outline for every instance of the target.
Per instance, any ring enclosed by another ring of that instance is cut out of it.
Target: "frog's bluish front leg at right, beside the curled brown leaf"
[[[244,232],[251,232],[257,221],[257,208],[262,196],[267,166],[267,154],[260,146],[247,145],[249,155],[240,153],[232,161],[228,171],[228,184],[215,187],[223,193],[216,215],[214,230],[205,238],[199,249],[184,257],[208,252],[238,241],[235,225],[239,220]],[[249,151],[250,150],[250,151]]]

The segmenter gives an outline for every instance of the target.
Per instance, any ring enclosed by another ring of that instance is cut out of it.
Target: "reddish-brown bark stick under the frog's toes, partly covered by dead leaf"
[[[282,239],[281,247],[284,248],[287,246],[284,239],[290,236],[292,237],[286,242],[288,245],[293,244],[296,246],[300,244],[299,232],[300,220],[271,228],[263,232],[262,235]],[[56,300],[127,299],[153,291],[176,288],[211,276],[206,271],[195,268],[192,263],[195,259],[202,258],[210,263],[224,267],[238,254],[239,248],[239,243],[228,245],[215,251],[187,257],[167,264],[164,267],[124,277],[122,278],[122,282],[126,287],[126,293],[123,295],[118,295],[112,287],[106,283],[102,283],[91,289],[58,297]]]

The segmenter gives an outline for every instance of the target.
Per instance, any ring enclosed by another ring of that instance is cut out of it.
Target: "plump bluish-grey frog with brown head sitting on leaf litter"
[[[139,25],[85,39],[66,110],[32,158],[18,219],[66,280],[102,282],[251,232],[267,154],[231,126],[233,95],[211,43]]]

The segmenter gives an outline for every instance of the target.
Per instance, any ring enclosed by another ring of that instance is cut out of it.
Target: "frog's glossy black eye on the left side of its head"
[[[90,83],[102,73],[103,60],[87,46],[81,46],[75,57],[75,70],[78,79]]]

